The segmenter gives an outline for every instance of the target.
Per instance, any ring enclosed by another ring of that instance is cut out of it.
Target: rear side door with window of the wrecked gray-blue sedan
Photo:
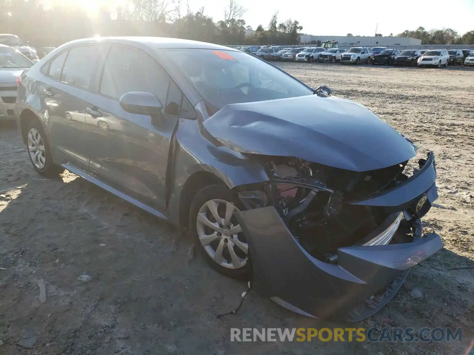
[[[40,89],[55,160],[70,162],[83,170],[89,166],[84,109],[98,59],[95,44],[60,53],[50,62]]]

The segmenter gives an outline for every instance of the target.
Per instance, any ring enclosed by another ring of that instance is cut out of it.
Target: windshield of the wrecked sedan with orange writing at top
[[[183,48],[166,54],[218,110],[228,104],[313,94],[285,72],[246,53]]]

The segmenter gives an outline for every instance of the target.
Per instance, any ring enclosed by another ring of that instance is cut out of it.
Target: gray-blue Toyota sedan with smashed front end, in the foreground
[[[364,319],[443,247],[420,221],[438,197],[433,153],[413,161],[366,107],[255,56],[79,40],[18,83],[38,173],[68,169],[188,229],[210,266],[292,311]]]

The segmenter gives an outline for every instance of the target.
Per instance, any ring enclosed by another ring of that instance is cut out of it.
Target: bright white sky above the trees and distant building
[[[268,26],[273,12],[278,19],[298,20],[308,35],[397,35],[404,30],[452,28],[459,34],[474,30],[474,0],[237,0],[245,9],[243,19],[255,30]],[[226,0],[187,0],[193,11],[218,21]],[[185,8],[186,0],[182,0]]]

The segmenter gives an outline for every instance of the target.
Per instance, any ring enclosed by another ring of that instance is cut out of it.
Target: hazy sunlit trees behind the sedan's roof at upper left
[[[214,21],[205,8],[191,9],[182,0],[129,0],[115,6],[97,0],[93,13],[81,1],[0,0],[0,33],[13,33],[36,46],[58,46],[94,35],[178,37],[216,44],[298,44],[303,29],[297,20],[280,21],[278,11],[267,26],[252,30],[246,12],[229,0],[222,19]],[[46,5],[47,4],[47,5]]]

